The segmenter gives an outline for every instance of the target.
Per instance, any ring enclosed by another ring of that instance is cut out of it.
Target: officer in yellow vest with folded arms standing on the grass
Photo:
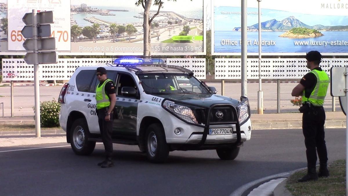
[[[291,95],[302,96],[302,131],[306,145],[308,172],[298,182],[317,180],[318,177],[328,177],[327,150],[325,144],[325,111],[323,108],[330,78],[319,67],[322,55],[318,51],[306,54],[307,68],[311,71],[303,76],[300,83],[292,90]],[[319,157],[319,173],[316,172],[317,152]]]

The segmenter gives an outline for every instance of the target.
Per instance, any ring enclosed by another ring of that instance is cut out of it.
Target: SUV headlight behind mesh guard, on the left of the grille
[[[193,114],[191,108],[175,104],[173,101],[169,101],[169,100],[165,100],[163,102],[163,107],[173,112],[178,118],[187,122],[197,124],[196,117]]]

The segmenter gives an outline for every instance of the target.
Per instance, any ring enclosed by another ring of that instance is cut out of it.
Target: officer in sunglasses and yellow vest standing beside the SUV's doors
[[[97,101],[97,115],[105,148],[105,160],[98,163],[101,167],[112,167],[112,122],[113,122],[113,108],[116,104],[116,88],[112,80],[106,76],[106,69],[104,67],[97,68],[97,78],[99,84],[96,87],[95,99]]]

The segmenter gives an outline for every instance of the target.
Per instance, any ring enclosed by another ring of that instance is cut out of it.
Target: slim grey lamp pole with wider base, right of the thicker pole
[[[258,1],[259,7],[259,91],[258,91],[258,114],[263,114],[263,92],[262,92],[262,80],[261,80],[261,7],[260,1]]]

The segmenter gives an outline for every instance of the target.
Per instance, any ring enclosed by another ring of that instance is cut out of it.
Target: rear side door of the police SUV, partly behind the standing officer
[[[112,81],[116,81],[116,71],[111,71],[111,70],[107,70],[106,71],[106,75],[108,76],[109,79],[111,79]],[[95,71],[96,73],[96,71]],[[99,81],[97,80],[97,76],[94,74],[93,80],[91,82],[91,85],[89,87],[88,92],[89,93],[93,93],[93,96],[85,99],[85,102],[87,102],[87,110],[88,110],[88,116],[87,116],[87,122],[88,122],[88,126],[89,126],[89,130],[90,133],[100,133],[100,129],[99,129],[99,124],[98,124],[98,116],[97,116],[97,110],[96,110],[96,104],[97,101],[95,100],[95,90],[96,90],[96,86],[99,84]]]

